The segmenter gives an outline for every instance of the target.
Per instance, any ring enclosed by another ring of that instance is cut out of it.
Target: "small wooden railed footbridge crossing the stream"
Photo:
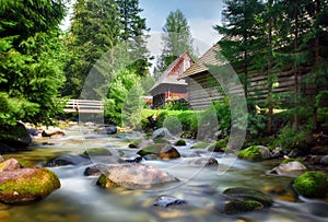
[[[104,113],[104,103],[92,100],[69,100],[63,110],[79,114],[102,114]]]

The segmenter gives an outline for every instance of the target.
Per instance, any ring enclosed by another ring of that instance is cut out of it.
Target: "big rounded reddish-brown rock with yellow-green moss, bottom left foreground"
[[[19,168],[0,173],[0,201],[5,203],[39,200],[59,187],[57,175],[47,168]]]

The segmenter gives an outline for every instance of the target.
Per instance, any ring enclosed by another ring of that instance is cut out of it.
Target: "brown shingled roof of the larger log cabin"
[[[204,55],[202,55],[199,58],[199,60],[196,63],[194,63],[189,69],[187,69],[178,79],[208,71],[209,68],[207,67],[207,65],[222,66],[224,61],[218,59],[218,52],[220,50],[221,47],[218,44],[212,46]]]

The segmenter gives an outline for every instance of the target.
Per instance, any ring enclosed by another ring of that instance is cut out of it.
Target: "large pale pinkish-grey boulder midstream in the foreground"
[[[104,171],[106,171],[104,173]],[[110,165],[103,168],[97,185],[104,188],[125,187],[145,189],[166,183],[177,182],[173,175],[155,166],[140,163]]]

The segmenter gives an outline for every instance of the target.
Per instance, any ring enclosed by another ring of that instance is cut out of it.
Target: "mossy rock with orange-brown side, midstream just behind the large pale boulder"
[[[179,152],[174,148],[166,143],[155,143],[152,145],[149,145],[142,150],[140,150],[137,154],[149,159],[162,159],[162,160],[171,160],[171,159],[177,159],[180,157]]]

